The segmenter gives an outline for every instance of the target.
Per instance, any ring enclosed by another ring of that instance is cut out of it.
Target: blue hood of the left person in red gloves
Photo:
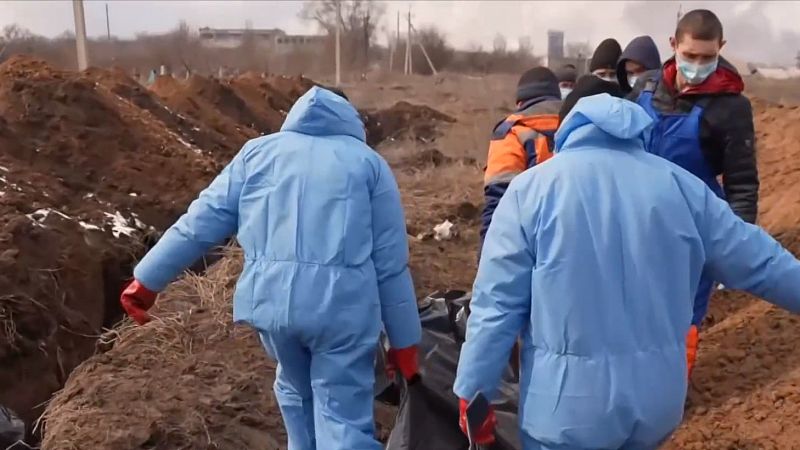
[[[364,123],[347,100],[314,86],[295,102],[281,131],[312,136],[346,135],[366,142]]]

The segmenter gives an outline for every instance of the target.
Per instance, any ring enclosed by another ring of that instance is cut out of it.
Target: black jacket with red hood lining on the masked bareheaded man
[[[648,83],[656,83],[653,106],[664,113],[688,113],[704,108],[700,146],[715,175],[722,176],[725,198],[743,220],[758,216],[758,168],[750,100],[742,94],[744,82],[728,61],[720,58],[717,71],[704,83],[676,92],[674,58],[659,70],[644,74],[628,99],[636,101]],[[661,75],[661,76],[659,76]]]

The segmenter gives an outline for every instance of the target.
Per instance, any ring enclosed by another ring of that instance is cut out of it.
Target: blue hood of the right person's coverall
[[[608,94],[584,97],[558,128],[556,152],[590,147],[641,149],[652,124],[647,112],[631,101]]]

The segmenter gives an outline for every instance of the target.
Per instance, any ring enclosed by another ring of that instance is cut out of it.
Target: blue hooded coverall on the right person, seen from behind
[[[495,395],[521,334],[525,450],[655,449],[678,426],[703,270],[800,312],[800,262],[701,180],[645,151],[652,119],[578,102],[558,153],[494,214],[455,393]]]

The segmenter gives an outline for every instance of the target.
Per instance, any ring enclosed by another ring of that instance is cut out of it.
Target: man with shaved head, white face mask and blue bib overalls
[[[755,223],[759,182],[753,111],[742,95],[742,77],[719,55],[725,45],[722,23],[711,11],[690,11],[670,44],[675,56],[643,75],[630,95],[655,119],[647,150],[693,173],[739,217]],[[686,340],[690,374],[713,285],[711,275],[704,274],[697,287]]]

